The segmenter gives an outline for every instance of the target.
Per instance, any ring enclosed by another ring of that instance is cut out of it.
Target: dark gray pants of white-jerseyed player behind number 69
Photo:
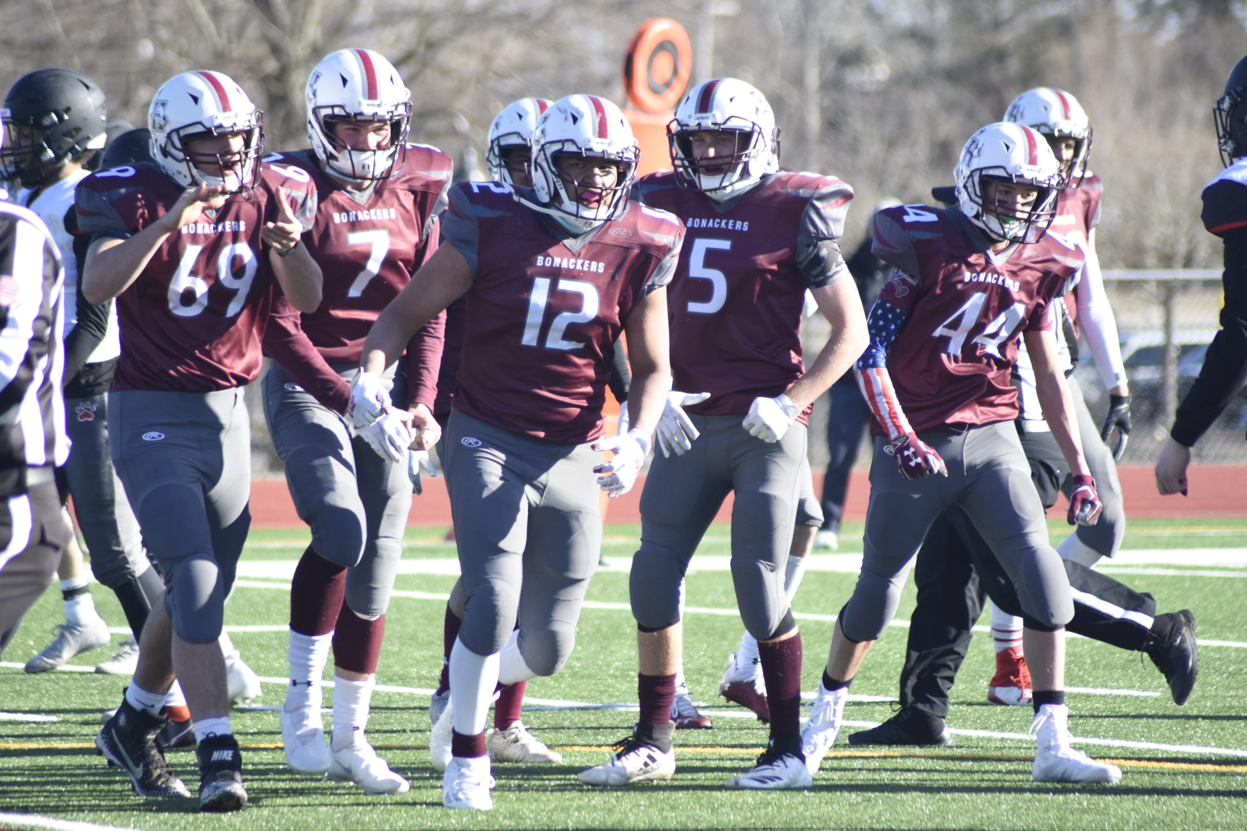
[[[146,572],[151,563],[138,520],[112,468],[108,396],[65,399],[65,420],[72,442],[65,478],[74,497],[74,515],[91,553],[91,573],[115,589]]]

